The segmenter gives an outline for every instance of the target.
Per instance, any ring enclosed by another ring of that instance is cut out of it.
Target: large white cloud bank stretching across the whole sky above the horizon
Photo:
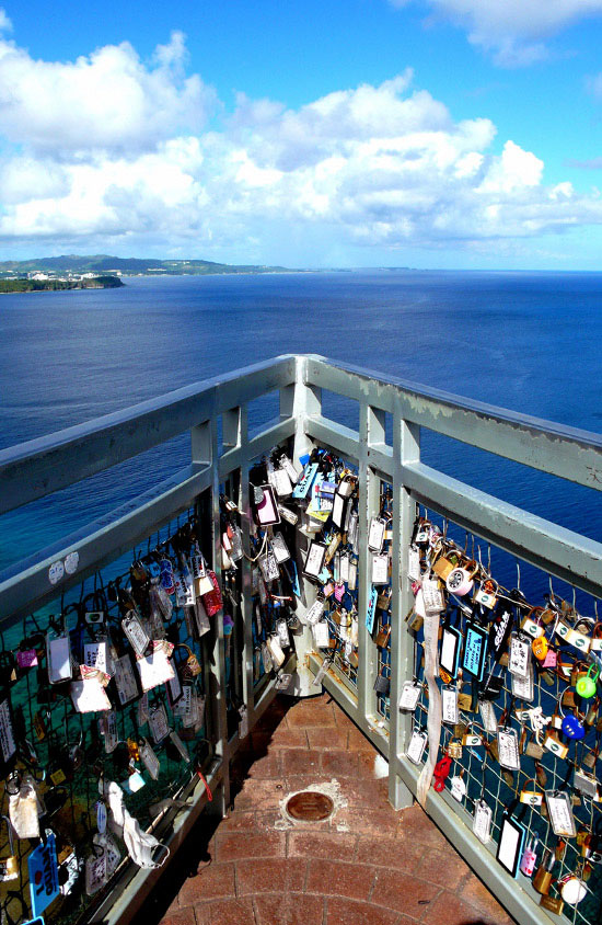
[[[198,127],[216,101],[198,77],[186,77],[178,35],[150,64],[127,44],[66,65],[32,61],[9,43],[0,48],[25,82],[18,87],[0,59],[0,94],[8,85],[19,91],[10,128],[0,115],[13,141],[0,158],[4,248],[120,242],[123,250],[135,241],[141,252],[149,244],[208,256],[235,249],[277,262],[281,251],[265,242],[298,239],[305,254],[313,244],[319,263],[325,241],[329,252],[359,244],[498,253],[549,231],[602,224],[597,193],[546,186],[536,153],[498,141],[487,118],[455,122],[430,93],[413,89],[409,70],[298,110],[240,95],[218,130]],[[97,92],[69,87],[69,76]],[[48,99],[47,81],[68,94],[54,110],[66,118],[60,133],[32,109]]]

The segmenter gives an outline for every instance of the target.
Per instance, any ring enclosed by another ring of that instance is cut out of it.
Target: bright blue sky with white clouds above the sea
[[[0,260],[602,270],[601,39],[602,0],[7,0]]]

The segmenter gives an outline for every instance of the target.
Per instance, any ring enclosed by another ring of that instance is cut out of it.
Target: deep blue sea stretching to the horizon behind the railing
[[[288,352],[591,431],[601,425],[602,274],[367,271],[126,283],[0,297],[0,446]],[[325,407],[357,424],[344,402]],[[175,441],[0,518],[0,568],[165,477],[188,452],[186,438]],[[424,457],[602,539],[592,491],[429,435]]]

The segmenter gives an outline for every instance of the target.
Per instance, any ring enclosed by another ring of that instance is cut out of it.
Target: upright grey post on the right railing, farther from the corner
[[[414,637],[405,616],[414,604],[407,578],[407,549],[415,519],[415,504],[404,488],[404,466],[420,459],[420,429],[404,421],[398,407],[393,411],[393,594],[391,598],[391,720],[389,728],[389,799],[394,809],[412,806],[412,791],[396,773],[396,755],[412,733],[409,713],[400,712],[404,681],[414,673]]]

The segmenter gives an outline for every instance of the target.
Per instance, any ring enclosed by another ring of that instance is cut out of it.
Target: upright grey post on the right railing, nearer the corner
[[[370,447],[382,443],[384,413],[362,402],[359,420],[358,709],[360,717],[364,718],[377,712],[377,647],[368,632],[366,614],[372,591],[372,559],[368,550],[368,532],[370,519],[379,510],[380,486],[370,467]]]

